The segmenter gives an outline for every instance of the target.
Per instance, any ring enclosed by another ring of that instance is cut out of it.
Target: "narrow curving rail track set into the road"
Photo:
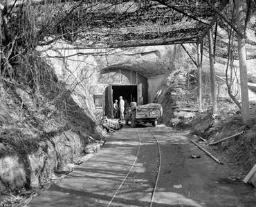
[[[149,201],[149,207],[152,207],[153,204],[154,204],[154,195],[156,193],[156,188],[157,188],[157,185],[158,185],[158,179],[159,179],[160,170],[161,170],[161,147],[160,147],[158,139],[154,135],[154,130],[150,130],[150,128],[144,128],[144,129],[147,129],[147,132],[149,133],[149,135],[151,135],[151,137],[156,141],[156,148],[157,148],[157,151],[158,151],[158,166],[157,166],[157,172],[156,172],[156,179],[154,181],[154,187],[153,187],[153,190],[152,190],[151,199]],[[120,193],[120,190],[124,186],[125,182],[127,181],[127,178],[131,174],[132,170],[134,169],[134,166],[136,165],[136,163],[138,161],[138,156],[140,155],[140,149],[141,149],[141,146],[142,146],[142,137],[140,135],[141,131],[139,130],[139,128],[137,128],[137,132],[138,132],[139,146],[138,146],[138,151],[137,151],[137,154],[136,154],[136,158],[134,159],[134,163],[131,165],[131,168],[127,172],[127,175],[122,180],[120,186],[118,186],[118,188],[116,190],[116,193],[113,195],[113,197],[109,201],[109,204],[107,205],[107,207],[109,207],[109,206],[111,206],[111,204],[113,204],[113,201],[116,199],[116,196],[118,195],[118,193]],[[143,131],[143,133],[144,132],[145,131]]]

